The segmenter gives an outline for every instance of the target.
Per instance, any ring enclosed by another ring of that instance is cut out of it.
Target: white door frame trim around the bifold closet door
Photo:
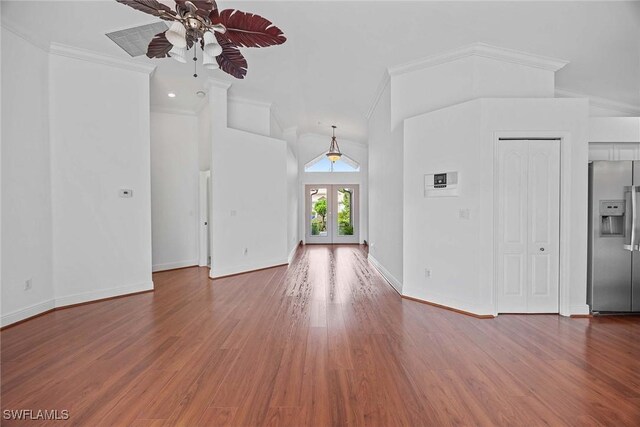
[[[570,242],[571,242],[571,134],[565,131],[497,131],[493,132],[493,314],[498,315],[498,143],[501,139],[560,139],[560,251],[558,277],[558,309],[562,316],[571,315]]]

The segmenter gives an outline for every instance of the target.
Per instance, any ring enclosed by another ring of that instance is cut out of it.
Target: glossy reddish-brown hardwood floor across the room
[[[23,425],[640,425],[639,317],[464,316],[402,300],[358,246],[154,282],[2,331],[2,409],[69,411]]]

